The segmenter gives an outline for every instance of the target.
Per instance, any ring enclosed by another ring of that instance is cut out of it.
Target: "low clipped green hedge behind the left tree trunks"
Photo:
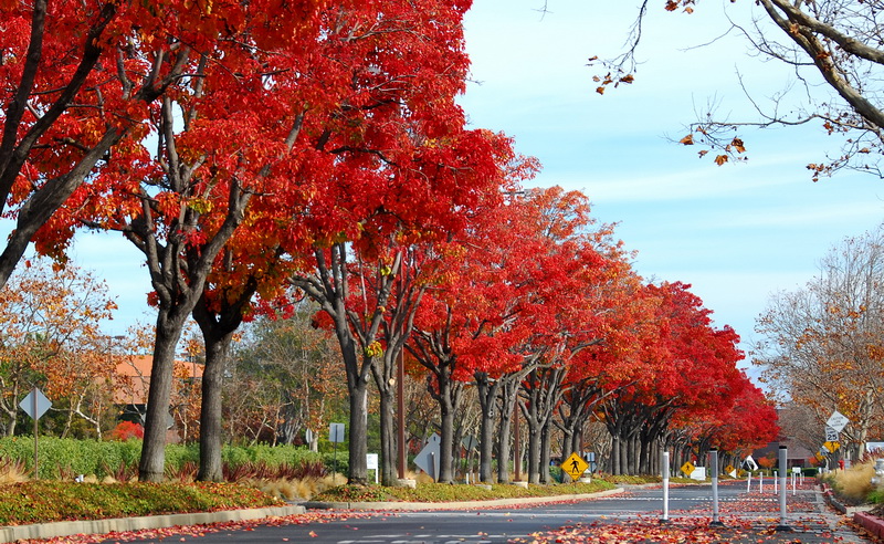
[[[70,438],[40,437],[38,443],[40,478],[66,480],[77,474],[95,474],[104,478],[113,474],[120,465],[135,470],[141,456],[141,441],[128,440],[98,441]],[[199,444],[168,444],[166,467],[171,470],[187,462],[199,464]],[[230,467],[245,463],[280,467],[298,465],[303,461],[322,461],[332,470],[333,454],[316,453],[304,447],[294,446],[224,446],[222,461]],[[0,438],[0,460],[11,460],[24,465],[30,474],[34,464],[34,441],[28,436]],[[347,473],[347,452],[337,452],[338,472]]]

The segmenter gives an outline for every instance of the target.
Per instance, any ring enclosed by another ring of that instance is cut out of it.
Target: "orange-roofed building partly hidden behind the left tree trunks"
[[[123,408],[120,419],[144,423],[147,414],[147,396],[150,388],[150,373],[154,357],[150,355],[129,355],[122,360],[113,378],[114,404]],[[194,362],[176,360],[176,376],[172,394],[182,380],[201,380],[203,366]],[[169,437],[175,441],[176,436]]]

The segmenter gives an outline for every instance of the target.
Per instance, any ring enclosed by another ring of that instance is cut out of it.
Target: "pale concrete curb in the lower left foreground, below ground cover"
[[[303,514],[303,506],[274,506],[266,509],[223,510],[196,512],[192,514],[144,515],[137,517],[113,517],[108,520],[69,521],[38,523],[0,527],[0,542],[17,542],[29,538],[53,538],[74,534],[106,534],[144,529],[165,529],[176,525],[202,525],[229,521],[259,520]]]

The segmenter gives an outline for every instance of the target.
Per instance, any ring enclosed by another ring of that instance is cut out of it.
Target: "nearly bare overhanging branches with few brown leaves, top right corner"
[[[697,3],[669,0],[665,9],[690,13]],[[723,164],[743,157],[743,128],[819,123],[828,134],[841,135],[842,146],[839,153],[808,165],[814,181],[844,168],[884,177],[884,88],[880,88],[884,6],[864,0],[758,0],[747,9],[747,2],[736,3],[749,15],[745,21],[732,18],[730,31],[746,38],[760,62],[782,63],[792,83],[761,100],[740,77],[755,115],[730,119],[714,107],[701,112],[681,143],[702,145],[701,156],[715,151],[715,161]],[[648,0],[643,0],[623,54],[600,62],[608,70],[597,77],[600,88],[632,82],[646,10]]]

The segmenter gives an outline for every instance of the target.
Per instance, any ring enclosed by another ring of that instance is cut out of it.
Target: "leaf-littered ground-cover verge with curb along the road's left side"
[[[322,508],[350,510],[431,510],[494,508],[602,496],[622,489],[592,483],[529,485],[419,484],[417,489],[340,485],[316,501]],[[33,481],[0,485],[0,542],[88,534],[136,534],[172,526],[257,523],[262,519],[312,519],[303,505],[286,504],[254,487],[234,483],[74,483]],[[328,514],[339,515],[339,514]],[[345,514],[356,515],[356,514]],[[74,541],[71,541],[74,542]]]

